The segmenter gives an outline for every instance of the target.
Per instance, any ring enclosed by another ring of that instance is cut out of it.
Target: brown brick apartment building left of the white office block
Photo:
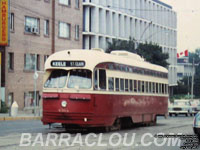
[[[3,101],[20,109],[33,106],[34,69],[39,71],[37,101],[44,62],[52,53],[82,48],[81,0],[10,0],[10,44],[2,52]],[[4,92],[5,90],[5,92]]]

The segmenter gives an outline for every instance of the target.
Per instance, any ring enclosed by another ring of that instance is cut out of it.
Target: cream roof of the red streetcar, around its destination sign
[[[121,53],[121,55],[117,55],[117,53],[118,54]],[[84,61],[85,62],[84,67],[76,67],[76,69],[84,68],[84,69],[89,69],[91,71],[95,68],[95,66],[97,66],[100,63],[112,62],[112,63],[124,64],[124,65],[135,66],[135,67],[168,73],[168,70],[166,68],[146,62],[140,56],[126,51],[114,51],[113,53],[108,54],[99,50],[83,50],[83,49],[64,50],[52,54],[47,59],[45,63],[45,70],[75,69],[74,67],[66,68],[66,67],[52,66],[51,64],[52,61]]]

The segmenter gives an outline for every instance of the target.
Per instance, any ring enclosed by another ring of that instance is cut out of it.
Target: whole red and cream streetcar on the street
[[[168,71],[126,51],[65,50],[45,63],[43,124],[116,127],[168,114]]]

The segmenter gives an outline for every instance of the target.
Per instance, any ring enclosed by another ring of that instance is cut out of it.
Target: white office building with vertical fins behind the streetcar
[[[83,0],[83,48],[113,39],[153,42],[169,53],[169,85],[177,84],[177,16],[159,0]]]

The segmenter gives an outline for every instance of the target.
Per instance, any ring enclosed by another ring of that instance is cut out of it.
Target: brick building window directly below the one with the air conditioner
[[[40,70],[40,56],[36,54],[25,54],[24,55],[24,70],[33,71],[36,69]]]

